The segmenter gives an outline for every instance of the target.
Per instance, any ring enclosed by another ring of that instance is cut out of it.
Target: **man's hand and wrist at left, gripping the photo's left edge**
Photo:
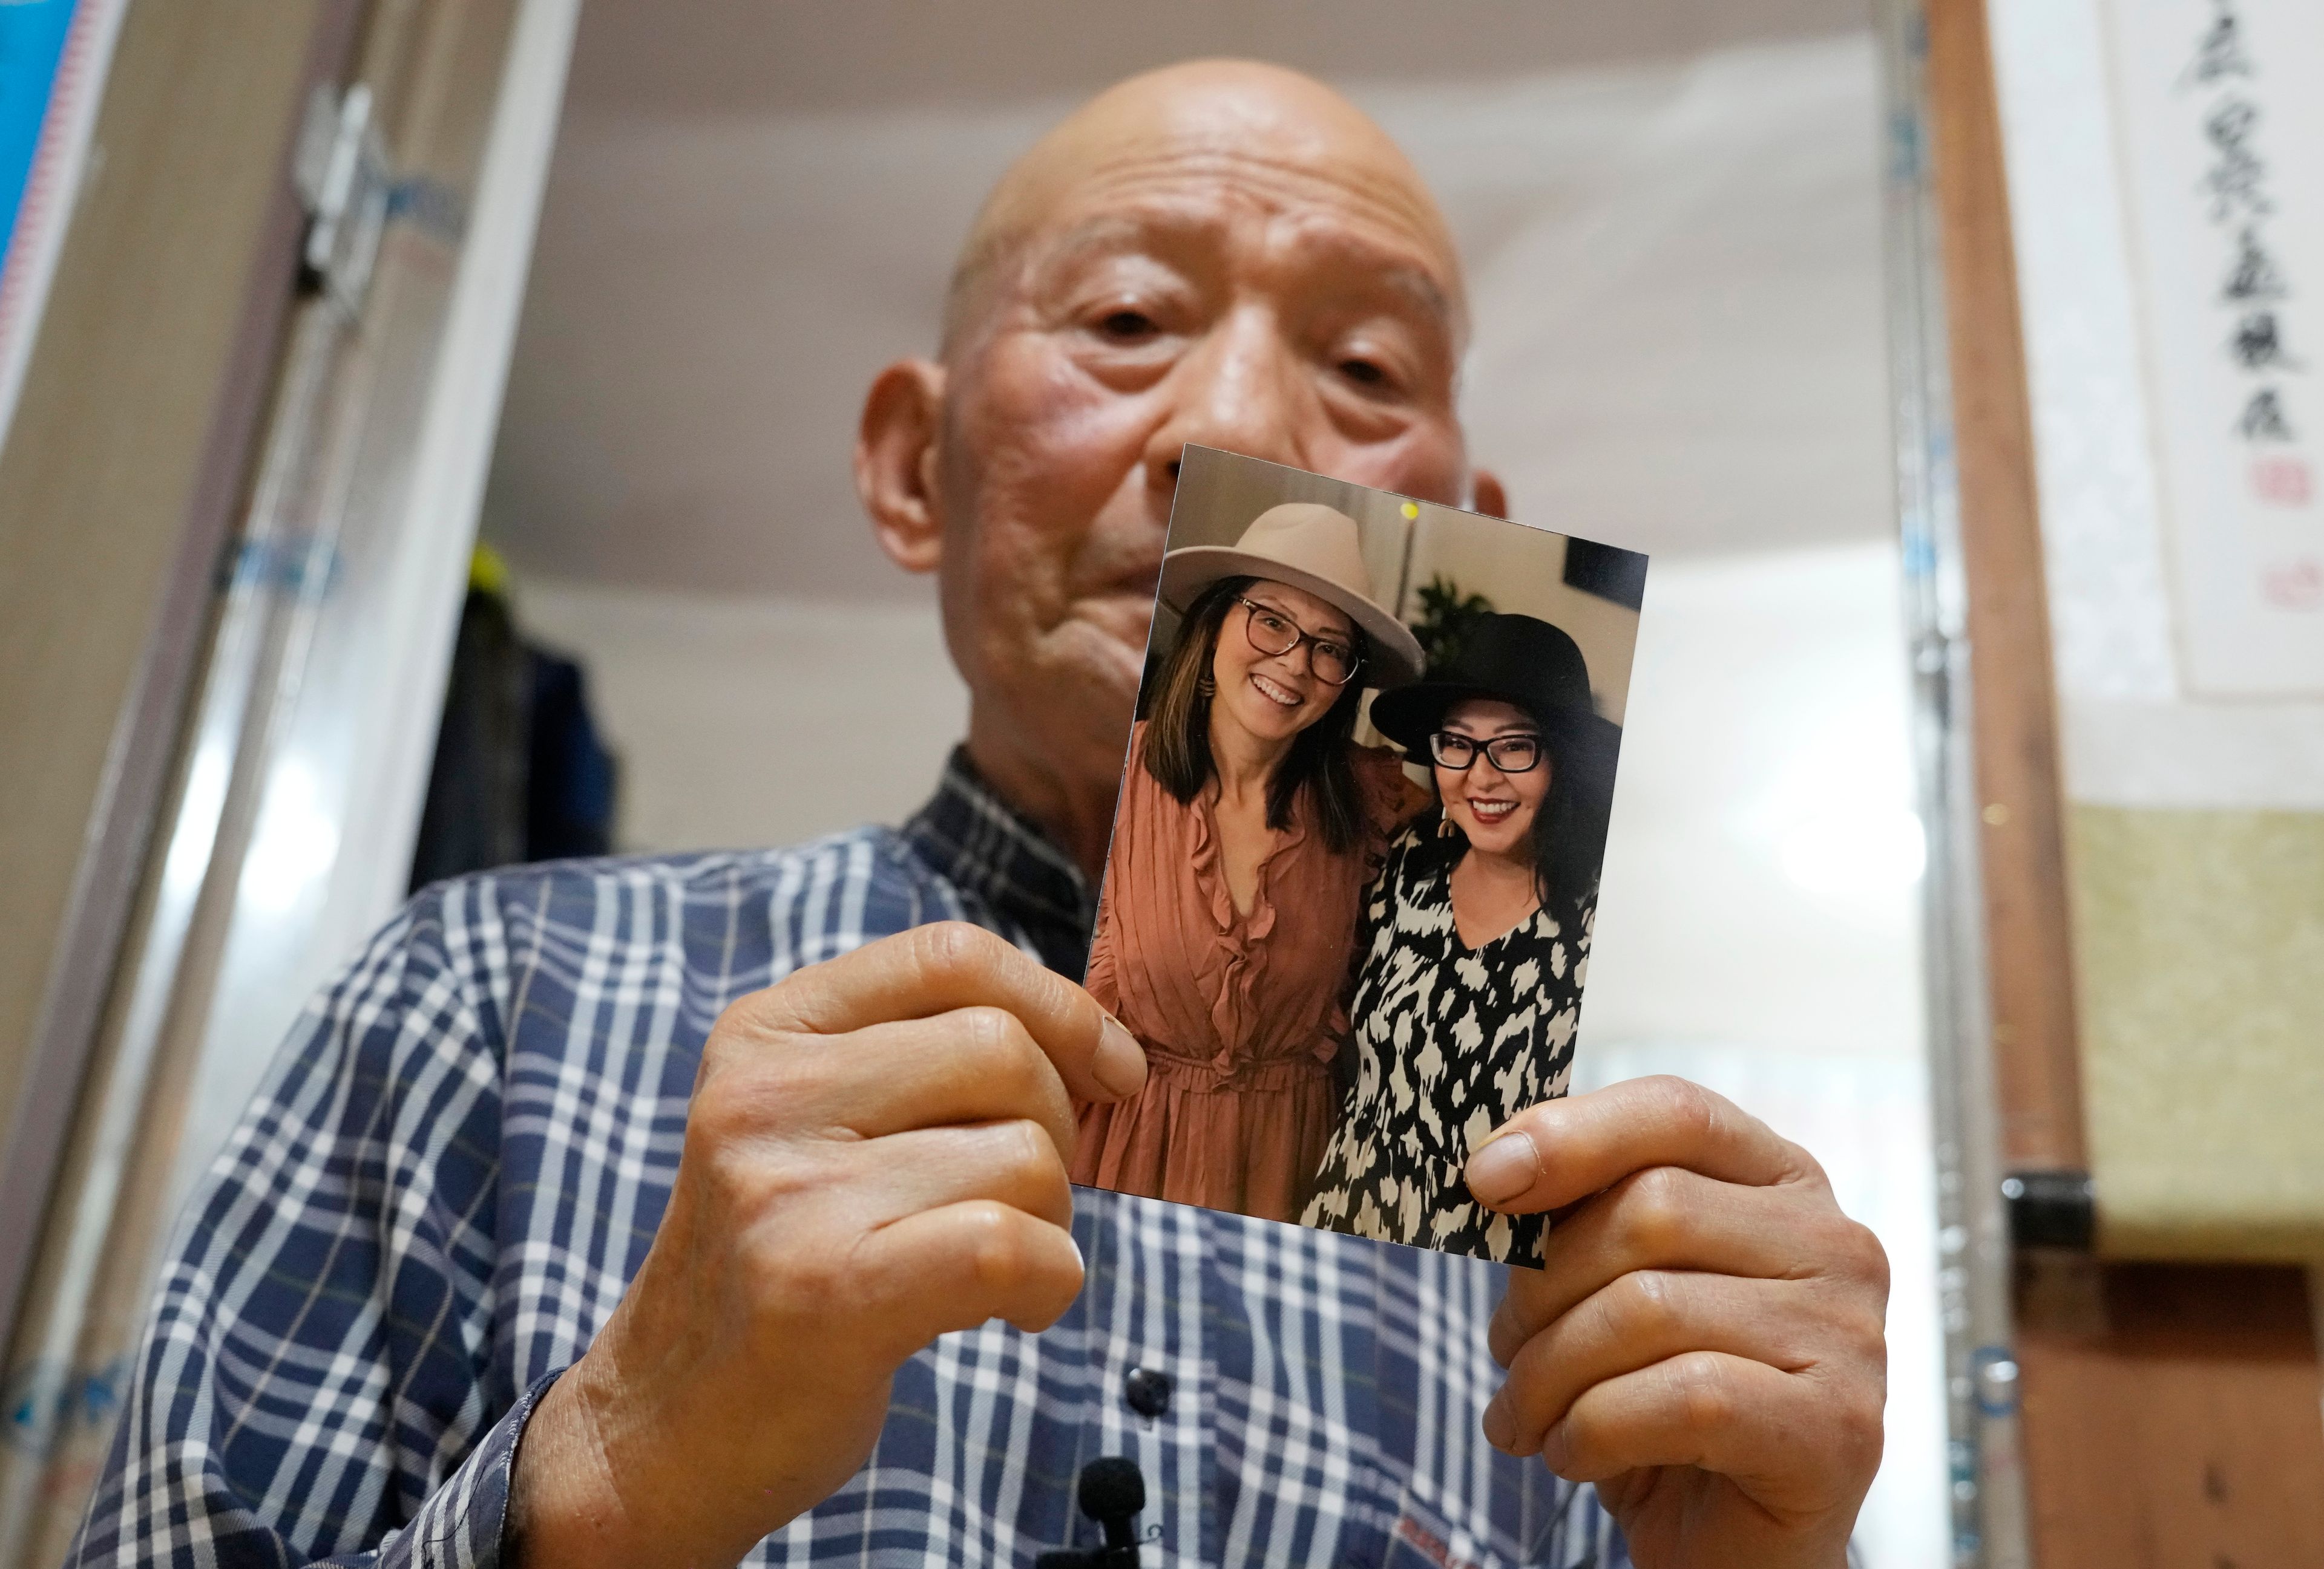
[[[516,1562],[732,1564],[834,1492],[913,1351],[1071,1304],[1071,1102],[1143,1084],[1081,986],[957,921],[734,1003],[646,1263],[525,1425]]]

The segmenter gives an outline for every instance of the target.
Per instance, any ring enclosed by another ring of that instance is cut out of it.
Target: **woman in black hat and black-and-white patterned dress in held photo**
[[[1357,1077],[1301,1221],[1541,1263],[1543,1216],[1504,1216],[1462,1172],[1492,1133],[1566,1093],[1620,729],[1580,648],[1490,615],[1371,722],[1434,764],[1439,810],[1364,898],[1350,1003]]]

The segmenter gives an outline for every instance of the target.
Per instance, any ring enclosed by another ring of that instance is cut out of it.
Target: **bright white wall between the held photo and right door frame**
[[[1868,1569],[1950,1564],[1908,701],[1894,545],[1652,564],[1576,1058],[1724,1093],[1880,1235]]]

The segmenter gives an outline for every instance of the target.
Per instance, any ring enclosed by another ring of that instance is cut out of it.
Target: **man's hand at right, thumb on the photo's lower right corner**
[[[1485,1437],[1597,1483],[1641,1569],[1836,1569],[1880,1469],[1887,1253],[1824,1170],[1685,1079],[1513,1116],[1469,1161],[1559,1209],[1492,1318]]]

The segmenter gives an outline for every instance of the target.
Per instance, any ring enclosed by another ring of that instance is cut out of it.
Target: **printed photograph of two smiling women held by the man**
[[[1645,557],[1185,448],[1074,1181],[1538,1265],[1464,1167],[1564,1096]]]

